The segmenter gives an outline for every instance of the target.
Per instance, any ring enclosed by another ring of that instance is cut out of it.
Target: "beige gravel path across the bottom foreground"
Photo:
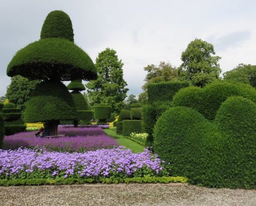
[[[256,190],[187,184],[84,184],[0,187],[0,205],[243,205],[256,206]]]

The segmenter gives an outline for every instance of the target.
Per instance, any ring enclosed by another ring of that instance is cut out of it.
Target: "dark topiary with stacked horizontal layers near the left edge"
[[[5,104],[3,114],[5,118],[5,135],[24,132],[26,130],[26,125],[21,119],[21,109],[16,108],[14,104]]]

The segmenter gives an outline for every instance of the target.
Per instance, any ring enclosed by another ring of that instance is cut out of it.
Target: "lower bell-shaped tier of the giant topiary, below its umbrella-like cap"
[[[68,120],[76,117],[74,102],[61,82],[43,81],[26,102],[24,120],[29,123]]]

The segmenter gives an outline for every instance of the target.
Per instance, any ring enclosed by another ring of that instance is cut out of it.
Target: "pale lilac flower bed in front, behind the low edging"
[[[50,152],[45,149],[0,150],[0,178],[36,177],[133,177],[152,173],[157,176],[162,163],[145,149],[132,153],[117,147],[84,153]],[[139,172],[139,173],[138,173]]]

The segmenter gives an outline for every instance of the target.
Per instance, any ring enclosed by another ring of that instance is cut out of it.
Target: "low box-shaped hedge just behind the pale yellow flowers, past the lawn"
[[[142,120],[124,120],[123,131],[124,136],[130,136],[131,132],[142,133]]]

